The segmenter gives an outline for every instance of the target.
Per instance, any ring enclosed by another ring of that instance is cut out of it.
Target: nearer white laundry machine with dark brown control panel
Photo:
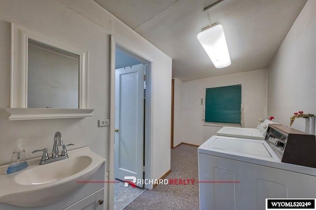
[[[198,147],[200,210],[266,210],[266,198],[316,198],[314,135],[270,125],[266,140],[212,136]]]

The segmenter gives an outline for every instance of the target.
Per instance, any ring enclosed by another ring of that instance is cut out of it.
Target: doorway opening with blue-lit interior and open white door
[[[149,178],[151,62],[113,37],[111,41],[109,180],[125,180],[126,176]],[[133,98],[136,95],[137,99]],[[151,188],[150,185],[139,186]],[[123,190],[130,192],[127,188]],[[114,186],[109,185],[109,209],[113,207]]]

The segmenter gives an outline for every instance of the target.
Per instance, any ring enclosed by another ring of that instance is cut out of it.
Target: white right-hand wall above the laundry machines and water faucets
[[[316,1],[309,0],[268,70],[268,113],[289,126],[294,112],[316,114]],[[305,120],[293,128],[304,131]]]

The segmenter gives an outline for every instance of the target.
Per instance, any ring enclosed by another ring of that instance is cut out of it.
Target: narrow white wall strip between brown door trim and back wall
[[[173,146],[183,142],[183,82],[174,78]]]

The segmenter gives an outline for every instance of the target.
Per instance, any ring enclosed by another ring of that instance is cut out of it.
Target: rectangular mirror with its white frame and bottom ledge
[[[10,120],[92,116],[87,52],[11,23]]]

